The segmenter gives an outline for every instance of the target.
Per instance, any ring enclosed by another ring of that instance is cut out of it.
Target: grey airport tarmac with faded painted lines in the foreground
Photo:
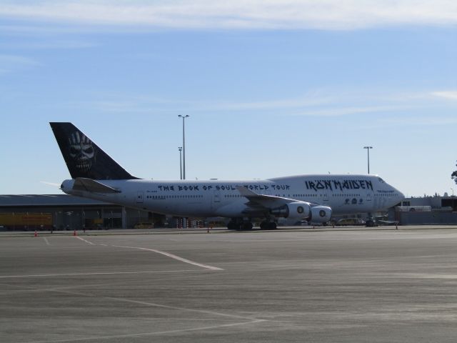
[[[0,342],[456,342],[457,229],[0,237]]]

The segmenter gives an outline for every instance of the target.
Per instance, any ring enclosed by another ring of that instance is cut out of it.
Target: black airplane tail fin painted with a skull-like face
[[[71,123],[49,123],[72,179],[138,179]]]

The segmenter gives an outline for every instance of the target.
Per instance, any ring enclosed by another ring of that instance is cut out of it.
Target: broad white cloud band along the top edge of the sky
[[[353,30],[455,25],[453,0],[7,1],[0,17],[166,29]]]

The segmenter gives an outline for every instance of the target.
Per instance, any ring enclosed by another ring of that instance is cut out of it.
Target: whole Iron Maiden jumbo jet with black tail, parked
[[[226,217],[229,229],[276,229],[279,217],[325,224],[332,214],[378,212],[404,198],[372,174],[309,174],[263,180],[156,181],[134,177],[69,122],[51,122],[77,197],[176,217]]]

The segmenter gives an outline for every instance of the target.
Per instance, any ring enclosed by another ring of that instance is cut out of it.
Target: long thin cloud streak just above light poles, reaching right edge
[[[457,99],[456,91],[368,92],[309,91],[302,96],[284,99],[228,101],[214,99],[163,99],[146,95],[101,94],[91,106],[107,113],[238,112],[280,114],[291,116],[351,116],[369,113],[411,113],[412,110],[433,109]]]

